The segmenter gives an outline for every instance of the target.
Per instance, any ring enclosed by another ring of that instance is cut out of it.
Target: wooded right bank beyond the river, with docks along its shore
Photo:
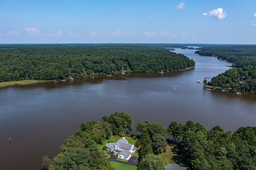
[[[232,69],[213,77],[207,85],[232,92],[256,93],[256,46],[214,45],[205,46],[199,55],[214,56],[232,62]]]

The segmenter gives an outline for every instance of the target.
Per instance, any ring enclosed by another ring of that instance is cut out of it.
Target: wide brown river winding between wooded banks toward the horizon
[[[172,121],[192,120],[208,129],[220,125],[232,132],[256,126],[256,95],[206,91],[196,83],[231,64],[194,51],[176,50],[196,61],[196,68],[188,71],[116,74],[0,89],[0,170],[40,170],[42,157],[56,156],[82,122],[100,121],[115,111],[129,113],[134,129],[146,120],[166,128]]]

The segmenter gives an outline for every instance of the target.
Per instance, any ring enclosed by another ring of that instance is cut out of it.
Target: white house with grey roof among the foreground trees
[[[129,160],[132,154],[135,152],[134,144],[129,144],[128,140],[124,137],[119,139],[116,143],[106,143],[108,150],[118,153],[118,158]]]

